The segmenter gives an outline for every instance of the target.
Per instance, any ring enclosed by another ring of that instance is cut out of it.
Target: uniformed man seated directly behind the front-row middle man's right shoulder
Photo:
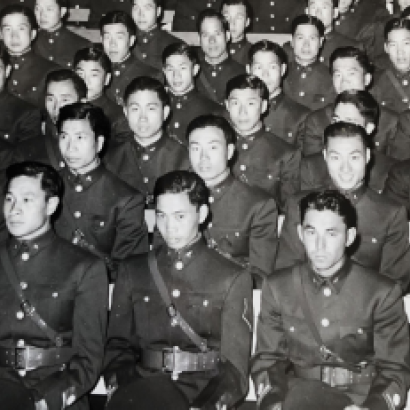
[[[196,118],[189,124],[187,138],[191,167],[211,193],[211,217],[205,238],[222,255],[248,269],[260,287],[275,264],[276,203],[231,174],[229,162],[235,154],[235,133],[225,118]]]

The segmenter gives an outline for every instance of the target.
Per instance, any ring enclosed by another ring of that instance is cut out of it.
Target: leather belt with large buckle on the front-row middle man
[[[173,373],[203,372],[216,369],[219,360],[219,352],[215,350],[195,353],[175,346],[159,350],[143,349],[141,364],[148,369]]]

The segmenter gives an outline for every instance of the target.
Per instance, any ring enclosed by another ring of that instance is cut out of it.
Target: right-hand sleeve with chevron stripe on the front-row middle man
[[[252,343],[252,279],[247,272],[231,285],[222,308],[221,364],[192,407],[213,410],[217,403],[231,408],[247,392]]]

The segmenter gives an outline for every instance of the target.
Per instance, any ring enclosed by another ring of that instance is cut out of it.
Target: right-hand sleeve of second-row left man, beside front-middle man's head
[[[148,252],[148,230],[144,219],[144,206],[144,197],[141,194],[126,198],[120,204],[115,242],[111,251],[114,260]]]

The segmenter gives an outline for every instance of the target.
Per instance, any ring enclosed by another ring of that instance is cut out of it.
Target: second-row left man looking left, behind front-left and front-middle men
[[[102,258],[110,274],[127,256],[148,251],[144,196],[100,162],[110,133],[103,111],[89,103],[64,106],[58,116],[59,148],[67,165],[56,232]]]

